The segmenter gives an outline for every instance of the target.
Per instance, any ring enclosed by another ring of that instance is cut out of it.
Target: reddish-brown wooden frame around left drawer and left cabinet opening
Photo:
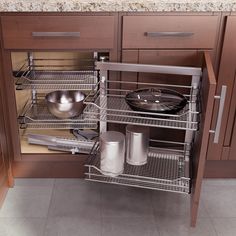
[[[3,14],[5,15],[5,14]],[[6,14],[9,17],[15,16],[15,14]],[[17,15],[17,14],[16,14]],[[43,17],[46,14],[36,14],[36,13],[28,13],[28,14],[19,14],[22,18],[24,16],[31,17],[32,15],[37,17]],[[17,17],[19,16],[17,15]],[[78,16],[78,14],[68,13],[67,16],[74,17]],[[117,50],[118,45],[118,14],[117,13],[81,13],[80,16],[114,16],[114,42],[113,48],[107,49],[97,49],[97,48],[86,48],[83,45],[83,49],[77,49],[77,51],[106,51],[109,52],[109,59],[111,61],[118,61],[119,55]],[[55,17],[63,17],[64,14],[54,14],[51,16]],[[86,18],[87,19],[87,18]],[[3,38],[3,36],[2,36]],[[28,45],[25,46],[25,50],[18,49],[17,50],[17,42],[16,45],[9,46],[9,49],[4,49],[4,44],[2,43],[2,57],[4,60],[2,61],[3,70],[3,84],[5,88],[4,94],[4,102],[6,104],[5,114],[8,117],[8,129],[7,129],[7,137],[11,141],[10,144],[10,157],[12,160],[12,171],[14,177],[48,177],[48,178],[56,178],[56,177],[83,177],[84,173],[84,163],[86,161],[87,155],[70,155],[70,154],[50,154],[50,155],[42,155],[39,153],[35,154],[21,154],[20,152],[20,143],[19,143],[19,135],[18,135],[18,122],[17,122],[17,113],[16,113],[16,100],[15,100],[15,87],[12,80],[12,65],[11,65],[11,52],[19,52],[21,51],[32,51],[35,50],[35,46]],[[48,47],[46,48],[38,48],[36,51],[49,51]],[[51,47],[50,51],[66,51],[68,50],[67,44],[63,44],[60,50],[57,46],[55,48]],[[69,48],[69,51],[71,48]],[[118,74],[113,74],[113,79],[117,79]],[[6,99],[7,98],[7,99]]]

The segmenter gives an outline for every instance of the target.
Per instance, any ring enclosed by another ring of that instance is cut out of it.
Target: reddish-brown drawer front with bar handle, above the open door
[[[218,16],[124,16],[123,48],[213,48]]]

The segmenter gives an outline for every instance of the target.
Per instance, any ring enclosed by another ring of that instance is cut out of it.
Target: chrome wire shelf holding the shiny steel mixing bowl
[[[22,129],[97,129],[97,122],[87,120],[84,115],[70,119],[58,119],[47,108],[46,102],[28,101],[18,117]]]

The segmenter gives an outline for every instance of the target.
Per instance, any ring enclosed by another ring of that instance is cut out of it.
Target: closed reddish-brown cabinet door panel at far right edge
[[[234,124],[235,124],[235,100],[236,100],[236,16],[229,16],[225,30],[224,45],[221,56],[220,71],[217,83],[217,94],[223,85],[227,86],[226,99],[223,110],[222,123],[220,127],[220,136],[218,143],[214,143],[214,135],[212,134],[208,147],[208,160],[228,160],[236,159],[233,156],[229,157],[230,146],[236,145],[233,141]],[[215,102],[214,114],[212,119],[211,128],[214,130],[216,127],[216,120],[218,116],[219,102]]]

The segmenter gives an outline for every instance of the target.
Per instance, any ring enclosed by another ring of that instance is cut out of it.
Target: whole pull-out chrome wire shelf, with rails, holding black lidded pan
[[[122,84],[122,82],[119,82]],[[128,84],[126,82],[125,84]],[[139,86],[141,84],[138,84]],[[146,83],[143,84],[148,86]],[[108,83],[109,86],[109,83]],[[153,86],[150,84],[149,86]],[[155,84],[155,86],[158,86]],[[173,87],[175,85],[159,85],[163,87]],[[198,109],[198,89],[191,86],[178,86],[189,91],[184,94],[188,99],[187,105],[177,114],[160,114],[133,111],[125,101],[125,95],[130,90],[100,88],[97,92],[92,91],[85,99],[87,104],[84,114],[87,119],[93,121],[105,121],[120,124],[136,124],[150,127],[171,128],[181,130],[198,130],[199,109]]]

